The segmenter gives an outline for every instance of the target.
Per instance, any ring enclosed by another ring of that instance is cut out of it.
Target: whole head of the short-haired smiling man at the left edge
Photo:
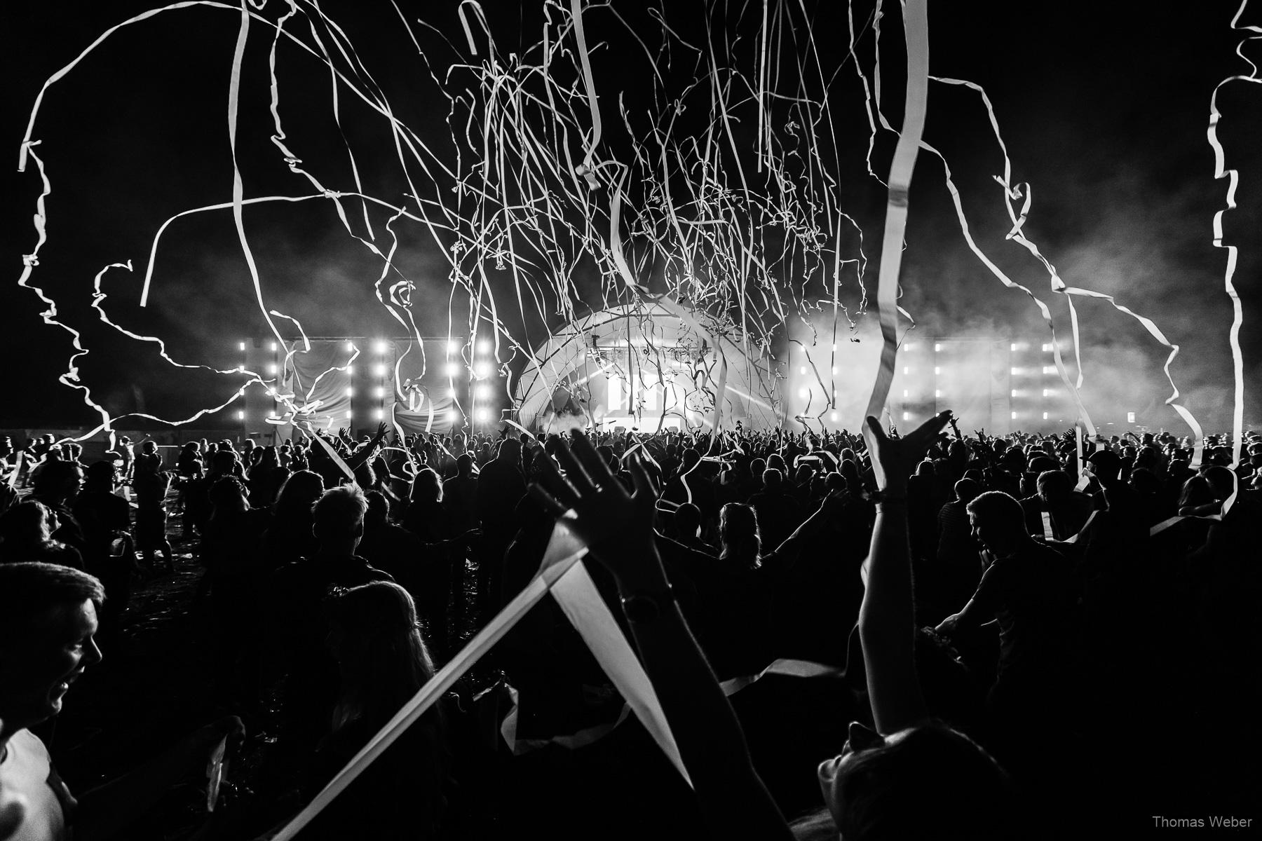
[[[5,735],[62,710],[83,670],[101,662],[93,635],[101,583],[56,564],[0,564],[0,719]]]

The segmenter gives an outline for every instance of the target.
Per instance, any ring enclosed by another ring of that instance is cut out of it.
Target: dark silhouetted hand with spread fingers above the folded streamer
[[[543,458],[541,485],[530,485],[535,501],[558,517],[573,511],[569,527],[616,576],[628,565],[642,565],[652,547],[658,492],[640,454],[628,459],[634,493],[627,493],[583,432],[575,431],[572,446],[558,449],[557,459],[564,475],[551,459]]]

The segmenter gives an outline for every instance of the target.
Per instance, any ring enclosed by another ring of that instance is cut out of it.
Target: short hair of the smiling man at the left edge
[[[0,564],[0,647],[23,644],[57,608],[105,601],[100,579],[61,564]]]

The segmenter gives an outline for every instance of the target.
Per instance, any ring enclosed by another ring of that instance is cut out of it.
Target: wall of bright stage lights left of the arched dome
[[[256,438],[289,438],[295,422],[357,435],[382,421],[405,434],[490,430],[506,401],[492,351],[482,344],[435,337],[241,342],[242,363],[269,382],[246,392],[237,420]]]

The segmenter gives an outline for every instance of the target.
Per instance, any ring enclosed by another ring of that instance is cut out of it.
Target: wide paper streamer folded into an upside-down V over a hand
[[[630,644],[622,637],[617,623],[610,614],[603,599],[596,593],[591,577],[579,561],[587,555],[587,547],[570,531],[567,518],[562,517],[553,528],[551,538],[544,552],[539,574],[531,579],[514,599],[495,617],[473,639],[468,642],[445,666],[432,677],[420,691],[333,777],[316,798],[274,836],[274,841],[288,841],[328,806],[334,797],[346,791],[363,769],[372,764],[386,748],[395,743],[409,726],[416,722],[473,664],[482,658],[549,590],[565,579],[555,596],[565,615],[575,624],[583,639],[592,647],[601,667],[613,685],[623,692],[627,704],[642,716],[641,721],[650,734],[658,739],[663,751],[671,758],[684,779],[688,773],[679,759],[679,749],[666,724],[665,714],[652,692],[644,668],[636,659]],[[573,570],[579,574],[567,577]]]

